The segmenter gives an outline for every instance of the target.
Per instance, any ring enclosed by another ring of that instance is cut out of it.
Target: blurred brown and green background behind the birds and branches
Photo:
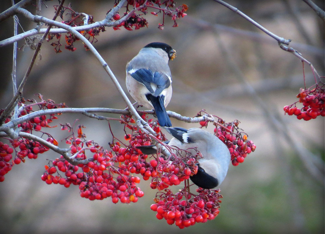
[[[324,22],[303,1],[227,2],[278,36],[291,38],[290,46],[311,61],[320,75],[324,74]],[[324,9],[323,1],[314,2]],[[75,11],[92,14],[95,21],[104,19],[113,6],[112,1],[71,3]],[[304,85],[302,63],[224,6],[213,1],[177,2],[183,3],[189,6],[188,16],[178,20],[177,28],[167,18],[161,31],[157,26],[162,15],[148,14],[149,28],[131,32],[106,28],[94,46],[126,91],[125,65],[140,48],[153,41],[170,44],[176,49],[177,58],[169,63],[173,97],[167,110],[195,116],[205,109],[227,122],[240,120],[241,128],[257,148],[244,163],[230,165],[220,186],[224,196],[220,214],[213,221],[184,230],[169,226],[164,220],[157,220],[149,209],[156,191],[149,189],[148,181],[141,182],[145,196],[135,204],[112,204],[110,198],[89,201],[79,196],[76,186],[64,188],[41,181],[45,159],[58,157],[47,152],[37,160],[27,159],[24,164],[15,165],[0,184],[0,232],[324,233],[324,117],[303,121],[283,113],[283,106],[297,101],[295,96]],[[57,4],[46,2],[43,15],[52,18],[53,5]],[[9,6],[9,0],[3,1],[1,12]],[[27,8],[34,13],[33,7]],[[25,31],[35,27],[21,15],[19,19]],[[12,25],[12,19],[0,24],[0,40],[12,35]],[[19,47],[22,44],[19,41]],[[63,45],[62,53],[55,54],[45,42],[42,60],[35,63],[23,96],[37,98],[37,93],[41,93],[44,98],[65,102],[69,107],[125,108],[91,52],[85,51],[81,42],[74,45],[75,52],[65,50]],[[28,47],[18,52],[19,81],[32,53]],[[0,108],[4,108],[12,97],[12,45],[0,47],[0,54]],[[313,74],[307,65],[305,75],[307,86],[313,85]],[[243,80],[251,86],[244,85]],[[251,87],[256,94],[250,94]],[[52,125],[73,123],[75,119],[87,127],[84,133],[88,139],[108,148],[111,136],[107,122],[71,114],[61,116]],[[198,126],[175,119],[172,123],[188,128]],[[123,136],[120,127],[113,126],[117,136]],[[65,137],[59,128],[50,133],[59,141]],[[63,143],[60,146],[64,147]],[[316,176],[306,169],[306,162],[297,151],[317,165]]]

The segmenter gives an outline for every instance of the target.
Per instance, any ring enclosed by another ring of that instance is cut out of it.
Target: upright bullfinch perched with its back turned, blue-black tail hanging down
[[[172,76],[168,61],[176,51],[162,42],[143,47],[126,64],[126,87],[131,96],[147,108],[154,108],[161,126],[172,126],[165,107],[172,97]]]

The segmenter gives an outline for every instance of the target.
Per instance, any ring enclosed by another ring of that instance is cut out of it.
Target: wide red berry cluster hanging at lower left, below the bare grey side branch
[[[116,160],[111,152],[80,138],[71,137],[66,143],[71,144],[70,152],[76,159],[86,159],[86,149],[91,152],[92,159],[87,164],[78,165],[72,165],[63,156],[50,161],[42,175],[42,180],[47,184],[61,184],[67,188],[71,184],[79,185],[80,196],[91,201],[111,197],[113,203],[119,200],[130,203],[143,196],[141,189],[136,187],[140,178],[130,175],[126,165],[115,166]],[[64,177],[59,172],[63,172]]]

